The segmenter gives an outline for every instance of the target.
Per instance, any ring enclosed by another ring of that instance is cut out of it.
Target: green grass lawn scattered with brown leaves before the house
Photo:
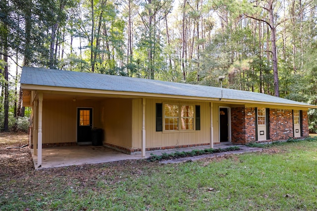
[[[175,165],[17,168],[0,169],[1,211],[317,210],[317,138]]]

